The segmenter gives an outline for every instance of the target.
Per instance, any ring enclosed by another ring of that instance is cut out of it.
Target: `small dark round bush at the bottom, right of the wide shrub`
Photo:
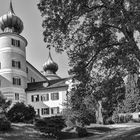
[[[79,137],[86,137],[88,135],[87,129],[85,127],[76,127],[76,132]]]

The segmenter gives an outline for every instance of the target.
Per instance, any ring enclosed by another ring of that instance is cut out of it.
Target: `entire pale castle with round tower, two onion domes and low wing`
[[[49,56],[43,74],[26,60],[27,40],[21,35],[23,22],[16,16],[12,2],[0,17],[0,91],[12,103],[32,105],[41,117],[59,115],[66,100],[69,78],[60,78],[58,65]]]

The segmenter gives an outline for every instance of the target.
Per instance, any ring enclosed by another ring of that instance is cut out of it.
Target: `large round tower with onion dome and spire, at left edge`
[[[11,1],[9,11],[0,17],[0,28],[0,91],[13,103],[26,103],[27,40],[20,35],[23,22],[16,16]]]

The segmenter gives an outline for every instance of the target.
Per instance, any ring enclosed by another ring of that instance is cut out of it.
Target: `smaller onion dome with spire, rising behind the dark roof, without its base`
[[[43,70],[48,74],[55,74],[56,71],[58,70],[58,65],[52,60],[50,51],[48,60],[43,65]]]

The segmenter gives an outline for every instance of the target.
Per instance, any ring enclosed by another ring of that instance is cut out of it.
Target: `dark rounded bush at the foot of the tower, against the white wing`
[[[35,110],[32,106],[26,106],[24,103],[16,103],[7,113],[7,117],[11,122],[28,123],[35,118]]]

